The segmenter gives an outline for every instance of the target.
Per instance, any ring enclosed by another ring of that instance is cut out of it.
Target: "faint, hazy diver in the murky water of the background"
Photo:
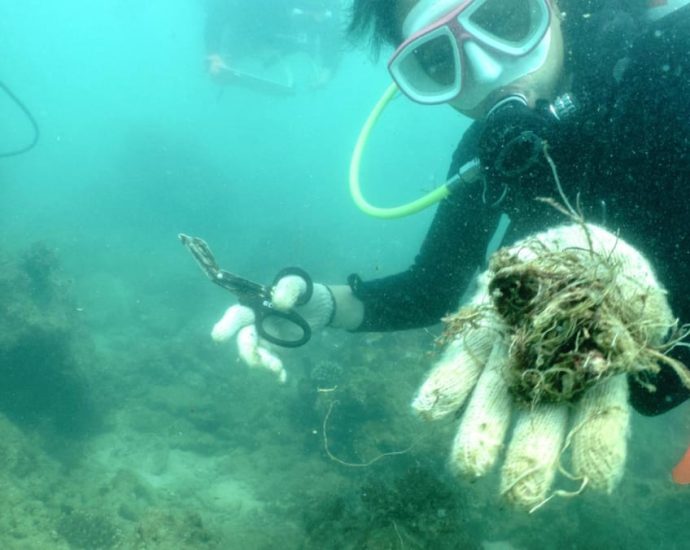
[[[205,41],[209,74],[219,83],[292,93],[288,60],[306,54],[311,88],[326,85],[341,58],[337,0],[211,0]]]

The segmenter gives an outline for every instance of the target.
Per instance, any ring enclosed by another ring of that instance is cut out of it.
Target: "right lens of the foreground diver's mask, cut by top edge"
[[[541,38],[548,11],[543,0],[486,0],[467,22],[500,42],[522,46]]]

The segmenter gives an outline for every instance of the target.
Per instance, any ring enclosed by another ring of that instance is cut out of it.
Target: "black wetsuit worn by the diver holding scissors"
[[[549,142],[551,156],[566,195],[579,193],[588,221],[620,229],[650,260],[674,314],[688,322],[690,6],[646,23],[606,3],[591,17],[564,24],[566,46],[574,45],[567,50],[566,69],[582,107]],[[481,154],[483,124],[476,122],[463,136],[449,174]],[[360,330],[431,325],[454,311],[483,267],[502,212],[512,222],[504,244],[564,223],[562,214],[535,200],[557,196],[548,167],[542,168],[460,187],[439,205],[412,267],[368,282],[351,276],[350,286],[365,304]],[[687,350],[673,355],[690,366]],[[651,381],[656,392],[630,385],[631,402],[642,414],[662,413],[690,396],[669,367]]]

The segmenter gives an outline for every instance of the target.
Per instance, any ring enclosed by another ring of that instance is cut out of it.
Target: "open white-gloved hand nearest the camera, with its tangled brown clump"
[[[580,487],[610,493],[626,457],[627,375],[644,381],[673,361],[663,351],[675,321],[645,258],[599,227],[557,227],[494,254],[446,321],[447,347],[412,406],[439,419],[469,397],[452,468],[487,474],[516,416],[500,480],[509,501],[546,502],[566,449]]]

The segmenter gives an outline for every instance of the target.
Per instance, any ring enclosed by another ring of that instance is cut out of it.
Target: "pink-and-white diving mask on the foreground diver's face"
[[[474,109],[545,63],[552,11],[550,0],[420,0],[388,70],[413,101]]]

